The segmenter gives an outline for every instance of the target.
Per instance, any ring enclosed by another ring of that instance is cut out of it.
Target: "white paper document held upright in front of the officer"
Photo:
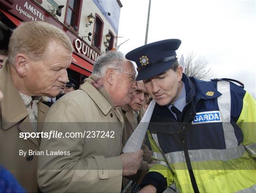
[[[129,137],[127,143],[125,144],[125,147],[123,149],[124,153],[135,152],[141,149],[154,108],[155,100],[152,100],[149,106],[147,107],[146,113],[142,117],[140,123],[138,124],[134,132]]]

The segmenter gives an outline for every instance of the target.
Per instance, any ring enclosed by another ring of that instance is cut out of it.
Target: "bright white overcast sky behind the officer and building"
[[[149,0],[121,0],[118,45],[145,44]],[[151,0],[147,43],[180,39],[177,55],[204,57],[212,78],[237,79],[256,98],[256,0]]]

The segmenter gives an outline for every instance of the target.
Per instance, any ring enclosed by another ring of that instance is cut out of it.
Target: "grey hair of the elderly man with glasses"
[[[125,57],[121,52],[107,52],[99,56],[93,66],[92,75],[102,78],[109,68],[123,70]]]

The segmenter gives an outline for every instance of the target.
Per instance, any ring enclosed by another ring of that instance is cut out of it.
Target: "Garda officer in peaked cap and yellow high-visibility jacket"
[[[256,101],[231,79],[183,74],[168,39],[126,55],[156,105],[148,126],[153,159],[141,193],[256,192]],[[238,82],[238,81],[235,81]]]

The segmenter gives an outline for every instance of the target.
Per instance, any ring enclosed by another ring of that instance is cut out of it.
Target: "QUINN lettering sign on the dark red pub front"
[[[92,61],[95,61],[99,56],[98,53],[92,50],[89,45],[86,45],[83,42],[81,42],[80,39],[75,39],[74,45],[77,52],[84,54],[85,56],[90,58]]]

